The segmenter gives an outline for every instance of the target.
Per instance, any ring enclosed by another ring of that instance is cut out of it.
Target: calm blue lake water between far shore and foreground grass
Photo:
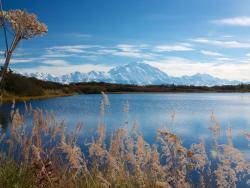
[[[248,143],[242,132],[250,132],[250,94],[110,94],[110,107],[105,116],[100,115],[101,95],[79,95],[48,100],[31,101],[33,108],[53,111],[58,120],[65,120],[67,130],[73,130],[78,122],[85,129],[96,128],[98,121],[105,122],[108,132],[117,129],[128,121],[131,127],[138,122],[138,130],[148,142],[155,140],[157,129],[172,129],[188,146],[200,138],[208,142],[211,132],[211,113],[222,126],[221,142],[225,142],[225,130],[231,126],[235,146],[247,152]],[[129,113],[124,113],[128,101]],[[24,104],[17,103],[24,111]],[[3,127],[8,126],[11,105],[2,105],[0,119]]]

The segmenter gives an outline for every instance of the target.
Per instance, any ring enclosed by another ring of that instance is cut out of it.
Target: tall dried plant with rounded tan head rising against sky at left
[[[47,26],[40,23],[35,14],[23,10],[9,10],[0,12],[0,28],[9,29],[12,33],[12,42],[5,52],[5,63],[0,73],[0,84],[10,64],[10,60],[18,43],[23,39],[30,39],[48,32]],[[7,37],[7,35],[5,35]],[[8,44],[7,44],[8,45]]]

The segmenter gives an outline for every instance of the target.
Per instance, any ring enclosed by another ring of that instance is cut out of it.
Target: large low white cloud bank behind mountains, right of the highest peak
[[[221,79],[250,81],[250,61],[248,63],[196,62],[185,58],[169,57],[160,61],[145,61],[145,63],[172,76],[202,73]]]

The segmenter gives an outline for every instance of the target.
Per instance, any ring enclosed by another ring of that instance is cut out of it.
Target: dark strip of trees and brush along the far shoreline
[[[3,100],[29,100],[75,94],[130,93],[130,92],[250,92],[250,85],[228,86],[176,86],[176,85],[126,85],[111,83],[72,83],[60,84],[28,78],[11,70],[7,72],[3,81]]]

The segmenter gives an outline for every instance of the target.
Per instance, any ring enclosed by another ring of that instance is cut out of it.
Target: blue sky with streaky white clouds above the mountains
[[[171,76],[250,81],[249,0],[3,0],[3,7],[35,13],[48,26],[46,35],[19,44],[11,61],[17,72],[142,62]]]

